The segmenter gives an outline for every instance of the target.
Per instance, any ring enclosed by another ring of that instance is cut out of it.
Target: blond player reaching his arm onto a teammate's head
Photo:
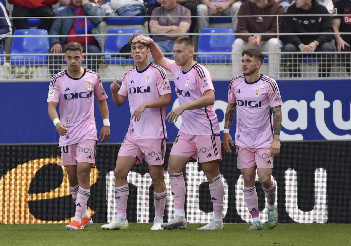
[[[173,143],[168,160],[168,173],[176,216],[161,227],[166,229],[185,229],[187,221],[184,212],[185,182],[183,170],[192,159],[199,157],[204,174],[210,183],[210,194],[213,205],[213,220],[199,230],[223,229],[224,186],[219,173],[218,163],[221,160],[219,123],[213,109],[214,88],[208,70],[193,60],[194,44],[188,37],[179,37],[174,42],[174,60],[163,56],[160,49],[150,38],[138,36],[133,42],[150,45],[152,57],[162,67],[174,75],[179,106],[173,109],[166,118],[176,122],[181,115],[182,123],[178,136]]]

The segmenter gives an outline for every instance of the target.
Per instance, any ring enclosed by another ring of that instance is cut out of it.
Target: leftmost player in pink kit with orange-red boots
[[[97,73],[81,67],[83,47],[76,42],[65,45],[67,69],[52,77],[47,98],[48,114],[60,135],[61,165],[66,167],[75,215],[66,230],[79,230],[93,224],[87,209],[90,170],[95,167],[98,140],[94,116],[94,96],[99,103],[104,126],[101,142],[110,138],[106,92]],[[59,104],[60,118],[56,108]]]

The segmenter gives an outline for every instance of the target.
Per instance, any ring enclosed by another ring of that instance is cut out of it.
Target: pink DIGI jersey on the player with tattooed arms
[[[235,144],[249,148],[271,146],[271,108],[283,104],[277,82],[265,75],[252,83],[246,81],[245,75],[236,76],[229,84],[228,102],[237,103]]]

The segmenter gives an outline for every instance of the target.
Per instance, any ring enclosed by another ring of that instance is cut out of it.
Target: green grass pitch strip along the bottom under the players
[[[0,225],[0,245],[48,246],[220,246],[220,245],[351,245],[351,224],[278,224],[273,230],[247,232],[248,224],[225,224],[222,231],[197,231],[200,224],[185,230],[150,231],[152,224],[130,223],[127,230],[102,230],[101,223],[81,231],[66,231],[62,224]]]

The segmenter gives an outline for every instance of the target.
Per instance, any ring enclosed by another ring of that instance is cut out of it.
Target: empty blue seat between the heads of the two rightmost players
[[[234,33],[233,28],[203,28],[200,33]],[[231,52],[235,35],[200,35],[198,52]],[[199,63],[231,63],[230,54],[199,54]]]

